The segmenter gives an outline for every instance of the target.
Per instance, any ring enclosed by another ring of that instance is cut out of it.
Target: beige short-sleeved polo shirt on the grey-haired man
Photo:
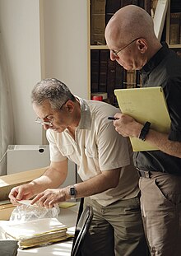
[[[56,133],[47,130],[50,160],[63,161],[69,159],[77,164],[77,172],[84,181],[102,171],[122,167],[119,184],[90,198],[103,206],[119,199],[134,198],[139,191],[137,187],[137,170],[132,162],[132,151],[128,139],[115,131],[113,121],[118,109],[101,101],[83,100],[81,104],[81,120],[76,129],[75,140],[65,130]]]

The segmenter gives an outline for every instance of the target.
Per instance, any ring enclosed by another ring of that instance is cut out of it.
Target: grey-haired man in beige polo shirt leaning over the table
[[[146,256],[132,149],[108,119],[118,109],[74,96],[57,79],[40,81],[32,91],[32,104],[36,123],[47,130],[51,163],[40,178],[12,189],[12,203],[33,197],[32,203],[53,207],[85,198],[94,217],[82,255]],[[82,182],[60,189],[67,177],[67,159],[77,164]]]

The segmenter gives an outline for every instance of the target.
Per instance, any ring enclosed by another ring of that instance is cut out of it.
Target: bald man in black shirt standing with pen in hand
[[[136,38],[136,40],[135,40]],[[128,5],[105,29],[110,58],[127,70],[139,70],[142,86],[162,86],[171,125],[159,133],[149,121],[138,123],[126,114],[114,115],[116,131],[137,137],[159,150],[134,152],[140,175],[142,218],[151,255],[181,255],[181,58],[160,43],[151,16]],[[129,43],[131,42],[131,43]],[[153,99],[154,102],[154,99]],[[153,103],[154,104],[154,103]]]

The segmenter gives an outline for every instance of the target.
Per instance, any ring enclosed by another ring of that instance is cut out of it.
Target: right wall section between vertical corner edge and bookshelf
[[[45,76],[87,98],[87,1],[44,0]]]

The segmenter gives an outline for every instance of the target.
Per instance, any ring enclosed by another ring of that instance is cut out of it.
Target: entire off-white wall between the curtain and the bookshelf
[[[86,5],[86,0],[0,0],[16,144],[42,143],[30,104],[41,77],[57,77],[87,98]]]

